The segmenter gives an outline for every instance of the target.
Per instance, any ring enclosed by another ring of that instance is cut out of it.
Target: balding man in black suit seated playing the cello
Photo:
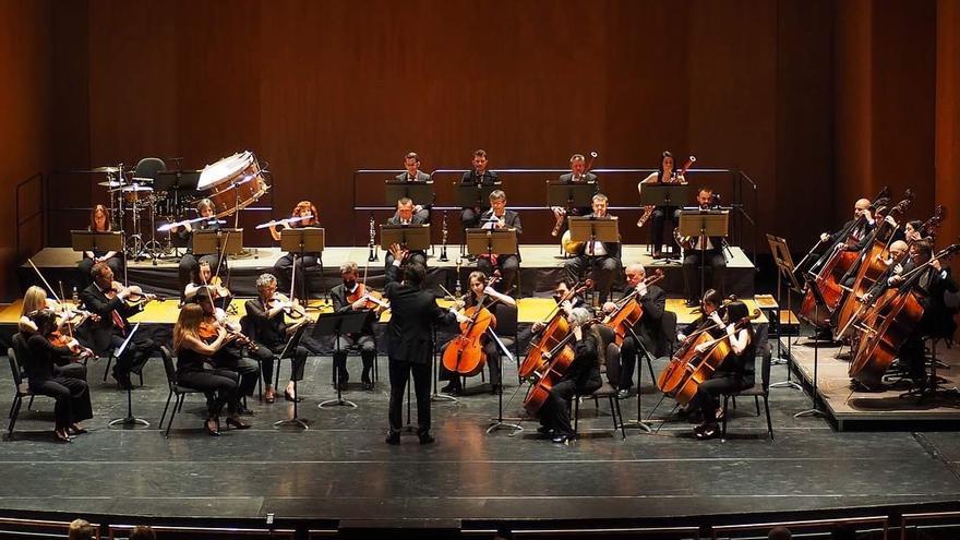
[[[636,299],[643,308],[644,314],[624,336],[623,344],[620,346],[620,364],[610,362],[607,365],[607,376],[610,383],[616,386],[616,396],[620,399],[629,397],[637,352],[649,351],[655,357],[660,357],[667,353],[668,348],[667,339],[662,335],[667,292],[656,285],[648,286],[645,283],[647,272],[640,263],[628,264],[624,274],[626,275],[626,291],[623,296],[636,292]],[[616,303],[607,302],[603,304],[603,312],[611,314],[616,312],[617,308]]]

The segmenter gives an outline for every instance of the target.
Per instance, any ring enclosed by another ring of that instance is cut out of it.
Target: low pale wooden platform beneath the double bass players
[[[791,344],[788,349],[788,339]],[[784,356],[790,351],[793,371],[807,388],[813,384],[814,341],[807,336],[781,338]],[[850,361],[838,359],[839,352],[849,351],[824,341],[817,347],[817,397],[838,431],[957,429],[960,428],[960,395],[947,395],[920,399],[901,395],[909,389],[888,385],[880,392],[854,391],[847,374]],[[946,380],[941,388],[960,386],[960,348],[937,347],[937,358],[947,368],[937,370]],[[955,391],[956,392],[956,391]]]

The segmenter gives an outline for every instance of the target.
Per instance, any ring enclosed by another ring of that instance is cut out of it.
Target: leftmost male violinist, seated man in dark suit
[[[94,283],[83,289],[80,298],[87,310],[99,316],[99,321],[91,326],[91,340],[94,351],[106,356],[123,345],[130,332],[128,317],[143,311],[144,304],[156,297],[143,295],[139,287],[123,287],[115,281],[113,271],[104,263],[95,264],[91,275]],[[157,344],[153,339],[133,336],[113,364],[112,376],[117,385],[123,389],[130,388],[130,374],[142,373],[143,365],[156,349]]]

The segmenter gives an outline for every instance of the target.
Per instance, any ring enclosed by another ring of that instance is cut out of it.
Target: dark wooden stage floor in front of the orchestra
[[[350,362],[359,379],[359,362]],[[381,362],[385,374],[385,359]],[[254,398],[254,428],[220,437],[201,431],[197,396],[188,399],[169,439],[155,429],[167,396],[159,360],[149,362],[146,386],[134,391],[136,415],[153,425],[107,428],[111,418],[123,416],[125,399],[100,382],[103,369],[93,364],[89,373],[96,411],[86,422],[91,432],[72,444],[52,441],[50,399],[37,398],[36,411],[24,407],[14,436],[0,443],[0,508],[170,519],[262,519],[273,513],[333,527],[453,523],[469,528],[501,520],[523,527],[541,519],[623,524],[819,515],[960,499],[956,433],[835,432],[821,419],[794,419],[809,399],[790,388],[772,391],[773,442],[753,404],[743,400],[731,412],[725,441],[696,441],[691,424],[677,419],[658,434],[633,430],[622,441],[612,434],[602,403],[599,416],[591,403],[584,404],[583,437],[569,446],[539,439],[533,421],[524,422],[527,430],[516,436],[508,431],[488,435],[496,399],[480,393],[458,404],[434,404],[436,444],[420,446],[409,435],[394,447],[383,442],[385,381],[373,392],[351,383],[345,397],[357,403],[356,409],[316,408],[334,397],[328,357],[310,359],[301,385],[307,400],[300,416],[310,422],[309,431],[274,429],[271,424],[288,417],[292,405],[261,405]],[[506,373],[513,392],[516,370],[507,367]],[[645,416],[659,399],[648,377],[645,373]],[[784,377],[785,369],[775,367],[773,380]],[[2,384],[11,389],[9,373]],[[485,388],[479,377],[469,386]],[[0,406],[9,407],[10,395],[3,393]],[[507,407],[508,416],[517,413],[520,398]],[[628,419],[636,418],[636,398],[622,401]],[[664,403],[653,418],[668,419],[670,409]]]

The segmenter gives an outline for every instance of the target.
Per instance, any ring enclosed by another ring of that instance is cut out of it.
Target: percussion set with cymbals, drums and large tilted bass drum
[[[179,160],[179,159],[178,159]],[[262,169],[252,152],[225,157],[203,170],[161,170],[156,178],[134,177],[133,170],[117,166],[98,167],[92,172],[107,175],[98,185],[107,188],[110,200],[112,230],[127,232],[124,253],[137,261],[178,256],[172,235],[183,223],[191,221],[194,203],[209,199],[217,218],[235,216],[235,227],[241,209],[260,200],[271,185],[267,170]],[[157,227],[157,223],[161,223]],[[144,235],[144,225],[149,233]],[[166,240],[157,241],[157,232]]]

